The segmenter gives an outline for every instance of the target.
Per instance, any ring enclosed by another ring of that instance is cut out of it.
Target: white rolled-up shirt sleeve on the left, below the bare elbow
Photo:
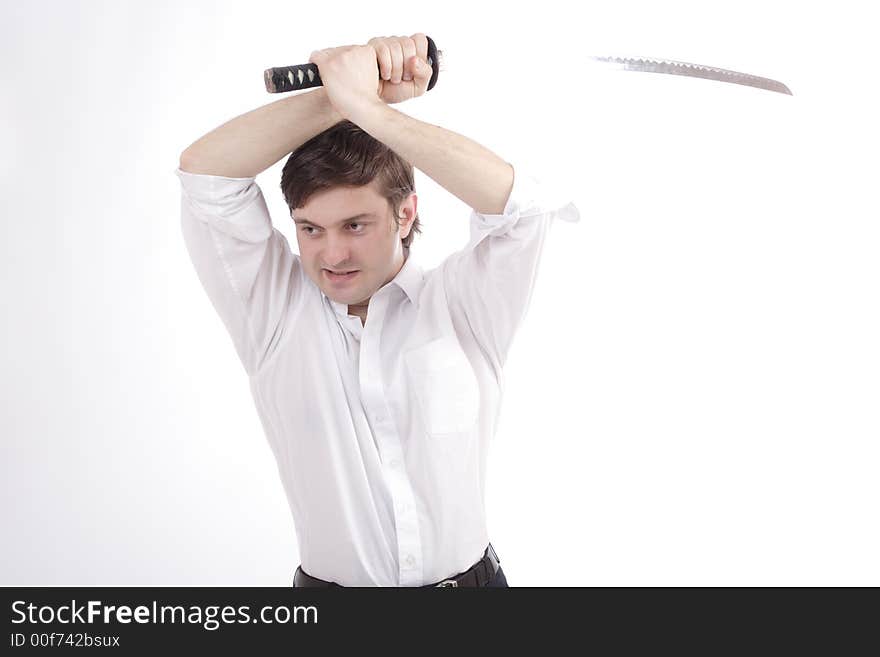
[[[178,168],[181,228],[198,278],[251,376],[292,321],[302,288],[299,256],[272,226],[255,178]]]

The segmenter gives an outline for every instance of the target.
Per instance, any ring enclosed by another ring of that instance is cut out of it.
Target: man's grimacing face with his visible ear
[[[392,209],[375,185],[373,181],[362,187],[324,190],[292,212],[308,276],[333,301],[363,310],[373,293],[403,266],[400,240],[409,234],[417,204],[414,193],[401,204],[398,229]],[[331,273],[349,271],[355,273]]]

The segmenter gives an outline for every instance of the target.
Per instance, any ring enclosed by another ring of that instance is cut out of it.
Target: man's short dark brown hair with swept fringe
[[[374,179],[378,180],[378,192],[388,201],[399,228],[400,203],[415,191],[412,164],[344,119],[290,154],[281,171],[281,192],[292,214],[294,208],[308,203],[316,192],[337,186],[360,187]],[[406,251],[415,234],[421,232],[416,212],[409,235],[401,240]]]

